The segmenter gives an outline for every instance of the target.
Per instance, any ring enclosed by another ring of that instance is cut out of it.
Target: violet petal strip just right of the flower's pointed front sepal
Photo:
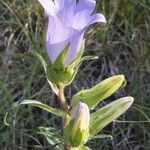
[[[65,58],[65,63],[64,63],[65,67],[68,66],[76,58],[76,56],[80,52],[84,32],[85,32],[85,30],[82,30],[70,39],[71,45],[69,47],[67,56]]]

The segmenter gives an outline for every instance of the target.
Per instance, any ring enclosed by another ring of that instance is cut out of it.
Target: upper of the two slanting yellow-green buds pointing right
[[[116,75],[107,78],[91,89],[85,89],[78,92],[73,96],[71,105],[74,106],[79,101],[82,101],[86,103],[90,109],[94,109],[99,102],[111,96],[116,90],[118,90],[123,81],[123,75]]]

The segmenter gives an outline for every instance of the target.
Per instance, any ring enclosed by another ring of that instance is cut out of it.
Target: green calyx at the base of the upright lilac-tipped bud
[[[68,126],[65,127],[65,142],[70,145],[70,147],[79,147],[85,144],[89,138],[89,130],[77,129],[74,131],[74,121],[71,120]]]

